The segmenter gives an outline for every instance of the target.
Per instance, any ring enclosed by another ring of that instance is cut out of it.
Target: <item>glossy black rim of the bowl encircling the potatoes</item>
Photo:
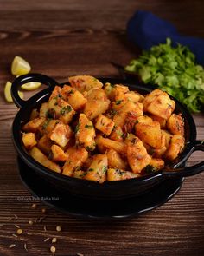
[[[122,83],[125,86],[128,86],[129,88],[131,88],[132,90],[142,90],[145,91],[146,93],[150,93],[150,91],[152,91],[153,89],[156,89],[156,87],[151,86],[151,85],[141,85],[138,82],[132,82],[132,81],[128,81],[128,80],[124,80],[124,79],[120,79],[120,78],[98,78],[100,82],[102,82],[103,84],[105,84],[105,82],[111,82],[111,83]],[[69,82],[63,82],[63,83],[57,83],[56,85],[59,86],[63,86],[64,84],[68,84]],[[16,148],[17,153],[19,154],[19,156],[22,158],[23,161],[25,161],[27,163],[27,165],[29,165],[29,167],[34,168],[35,170],[37,170],[38,172],[48,175],[54,179],[57,179],[59,181],[65,182],[65,181],[69,181],[71,183],[75,183],[77,182],[78,184],[81,185],[85,185],[87,187],[118,187],[118,185],[122,185],[123,187],[125,186],[129,186],[130,183],[144,183],[147,181],[151,181],[156,179],[157,177],[162,177],[162,170],[156,171],[154,173],[151,174],[145,174],[141,177],[137,177],[137,178],[132,178],[132,179],[128,179],[128,180],[121,180],[121,181],[105,181],[103,183],[99,183],[97,181],[88,181],[88,180],[83,180],[83,179],[78,179],[78,178],[74,178],[74,177],[70,177],[67,175],[63,175],[63,174],[58,174],[55,173],[54,171],[50,170],[48,167],[44,167],[43,165],[41,165],[41,163],[39,163],[38,161],[35,161],[35,159],[33,159],[31,156],[29,156],[28,153],[26,153],[26,150],[23,149],[22,146],[22,140],[21,140],[21,136],[20,134],[21,132],[21,126],[22,126],[22,114],[24,112],[29,112],[28,110],[32,110],[34,106],[36,106],[38,103],[42,103],[43,100],[45,100],[48,95],[51,94],[52,92],[52,88],[47,88],[47,89],[42,89],[40,92],[36,93],[35,95],[31,96],[29,98],[28,101],[25,102],[25,104],[22,106],[22,108],[19,109],[19,111],[17,112],[15,119],[13,121],[12,124],[12,139],[13,139],[13,143],[14,146]],[[170,167],[176,168],[176,167],[180,167],[183,162],[186,161],[185,158],[187,158],[186,156],[190,153],[191,149],[192,149],[192,145],[194,143],[194,141],[196,140],[196,126],[194,123],[194,118],[193,116],[189,113],[188,109],[186,107],[184,107],[182,105],[181,102],[179,102],[178,100],[175,99],[175,97],[169,95],[170,98],[172,100],[175,101],[175,108],[179,109],[179,112],[182,113],[182,117],[185,120],[185,125],[186,125],[186,121],[188,122],[188,141],[186,141],[186,146],[184,148],[184,150],[182,151],[182,153],[179,155],[178,158],[175,159],[175,161],[172,161],[170,163]],[[17,132],[16,132],[17,129]]]

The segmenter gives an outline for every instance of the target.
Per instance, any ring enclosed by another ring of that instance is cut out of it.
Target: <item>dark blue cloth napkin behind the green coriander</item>
[[[181,36],[174,25],[148,11],[137,10],[127,23],[127,35],[141,49],[166,43],[166,38],[169,37],[173,46],[176,43],[188,46],[194,53],[196,62],[204,66],[204,39]]]

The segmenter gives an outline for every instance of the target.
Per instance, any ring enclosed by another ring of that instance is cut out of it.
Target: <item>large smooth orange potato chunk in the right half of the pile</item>
[[[141,141],[149,144],[153,148],[161,148],[162,133],[160,124],[157,121],[152,121],[149,124],[138,122],[135,126],[136,135]]]

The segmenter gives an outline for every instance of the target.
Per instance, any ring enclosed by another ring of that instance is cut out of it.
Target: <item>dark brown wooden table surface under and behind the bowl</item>
[[[125,36],[135,10],[150,10],[183,34],[204,36],[201,0],[0,1],[0,255],[52,255],[51,240],[44,240],[54,237],[56,255],[204,255],[204,174],[187,178],[162,207],[113,222],[79,220],[40,201],[33,208],[18,175],[10,138],[17,108],[3,97],[5,82],[13,79],[13,57],[26,58],[33,72],[59,82],[75,74],[117,77],[111,62],[125,65],[139,53]],[[199,140],[204,138],[203,117],[194,115]],[[201,152],[194,153],[188,164],[201,159]],[[29,225],[30,219],[43,216],[46,219]],[[15,225],[22,235],[13,235]],[[55,230],[58,225],[61,232]]]

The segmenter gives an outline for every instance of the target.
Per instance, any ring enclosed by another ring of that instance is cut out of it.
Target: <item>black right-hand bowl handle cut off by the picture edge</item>
[[[204,151],[204,141],[194,141],[193,142],[193,148],[191,149],[190,153],[188,154],[188,157],[185,159],[187,160],[189,156],[194,151]],[[198,164],[195,164],[191,167],[182,167],[182,168],[170,168],[166,167],[162,171],[163,177],[188,177],[195,174],[199,174],[202,171],[204,171],[204,161],[201,161]]]

